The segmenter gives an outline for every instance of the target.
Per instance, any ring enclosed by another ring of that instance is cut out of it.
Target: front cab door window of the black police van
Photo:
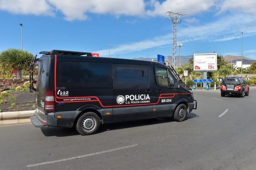
[[[158,86],[170,87],[167,69],[155,67],[155,79]]]

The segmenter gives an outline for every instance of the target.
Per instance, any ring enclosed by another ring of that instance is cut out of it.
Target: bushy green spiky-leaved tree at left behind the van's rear
[[[8,49],[0,53],[0,67],[2,69],[16,69],[17,78],[22,79],[22,70],[27,68],[33,54],[18,50],[18,49]]]

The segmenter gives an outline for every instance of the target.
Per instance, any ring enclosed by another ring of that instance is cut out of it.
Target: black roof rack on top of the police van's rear
[[[89,56],[89,57],[92,57],[92,53],[78,52],[78,51],[63,51],[63,50],[41,51],[39,54],[43,54],[43,56],[64,55],[64,56]]]

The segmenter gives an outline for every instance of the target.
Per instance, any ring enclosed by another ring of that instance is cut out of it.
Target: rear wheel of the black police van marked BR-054
[[[83,113],[76,122],[76,130],[81,135],[94,134],[99,130],[100,120],[96,113]]]

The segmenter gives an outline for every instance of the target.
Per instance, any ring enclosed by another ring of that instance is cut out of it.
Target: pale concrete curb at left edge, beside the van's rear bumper
[[[36,110],[0,112],[0,125],[29,123]]]

